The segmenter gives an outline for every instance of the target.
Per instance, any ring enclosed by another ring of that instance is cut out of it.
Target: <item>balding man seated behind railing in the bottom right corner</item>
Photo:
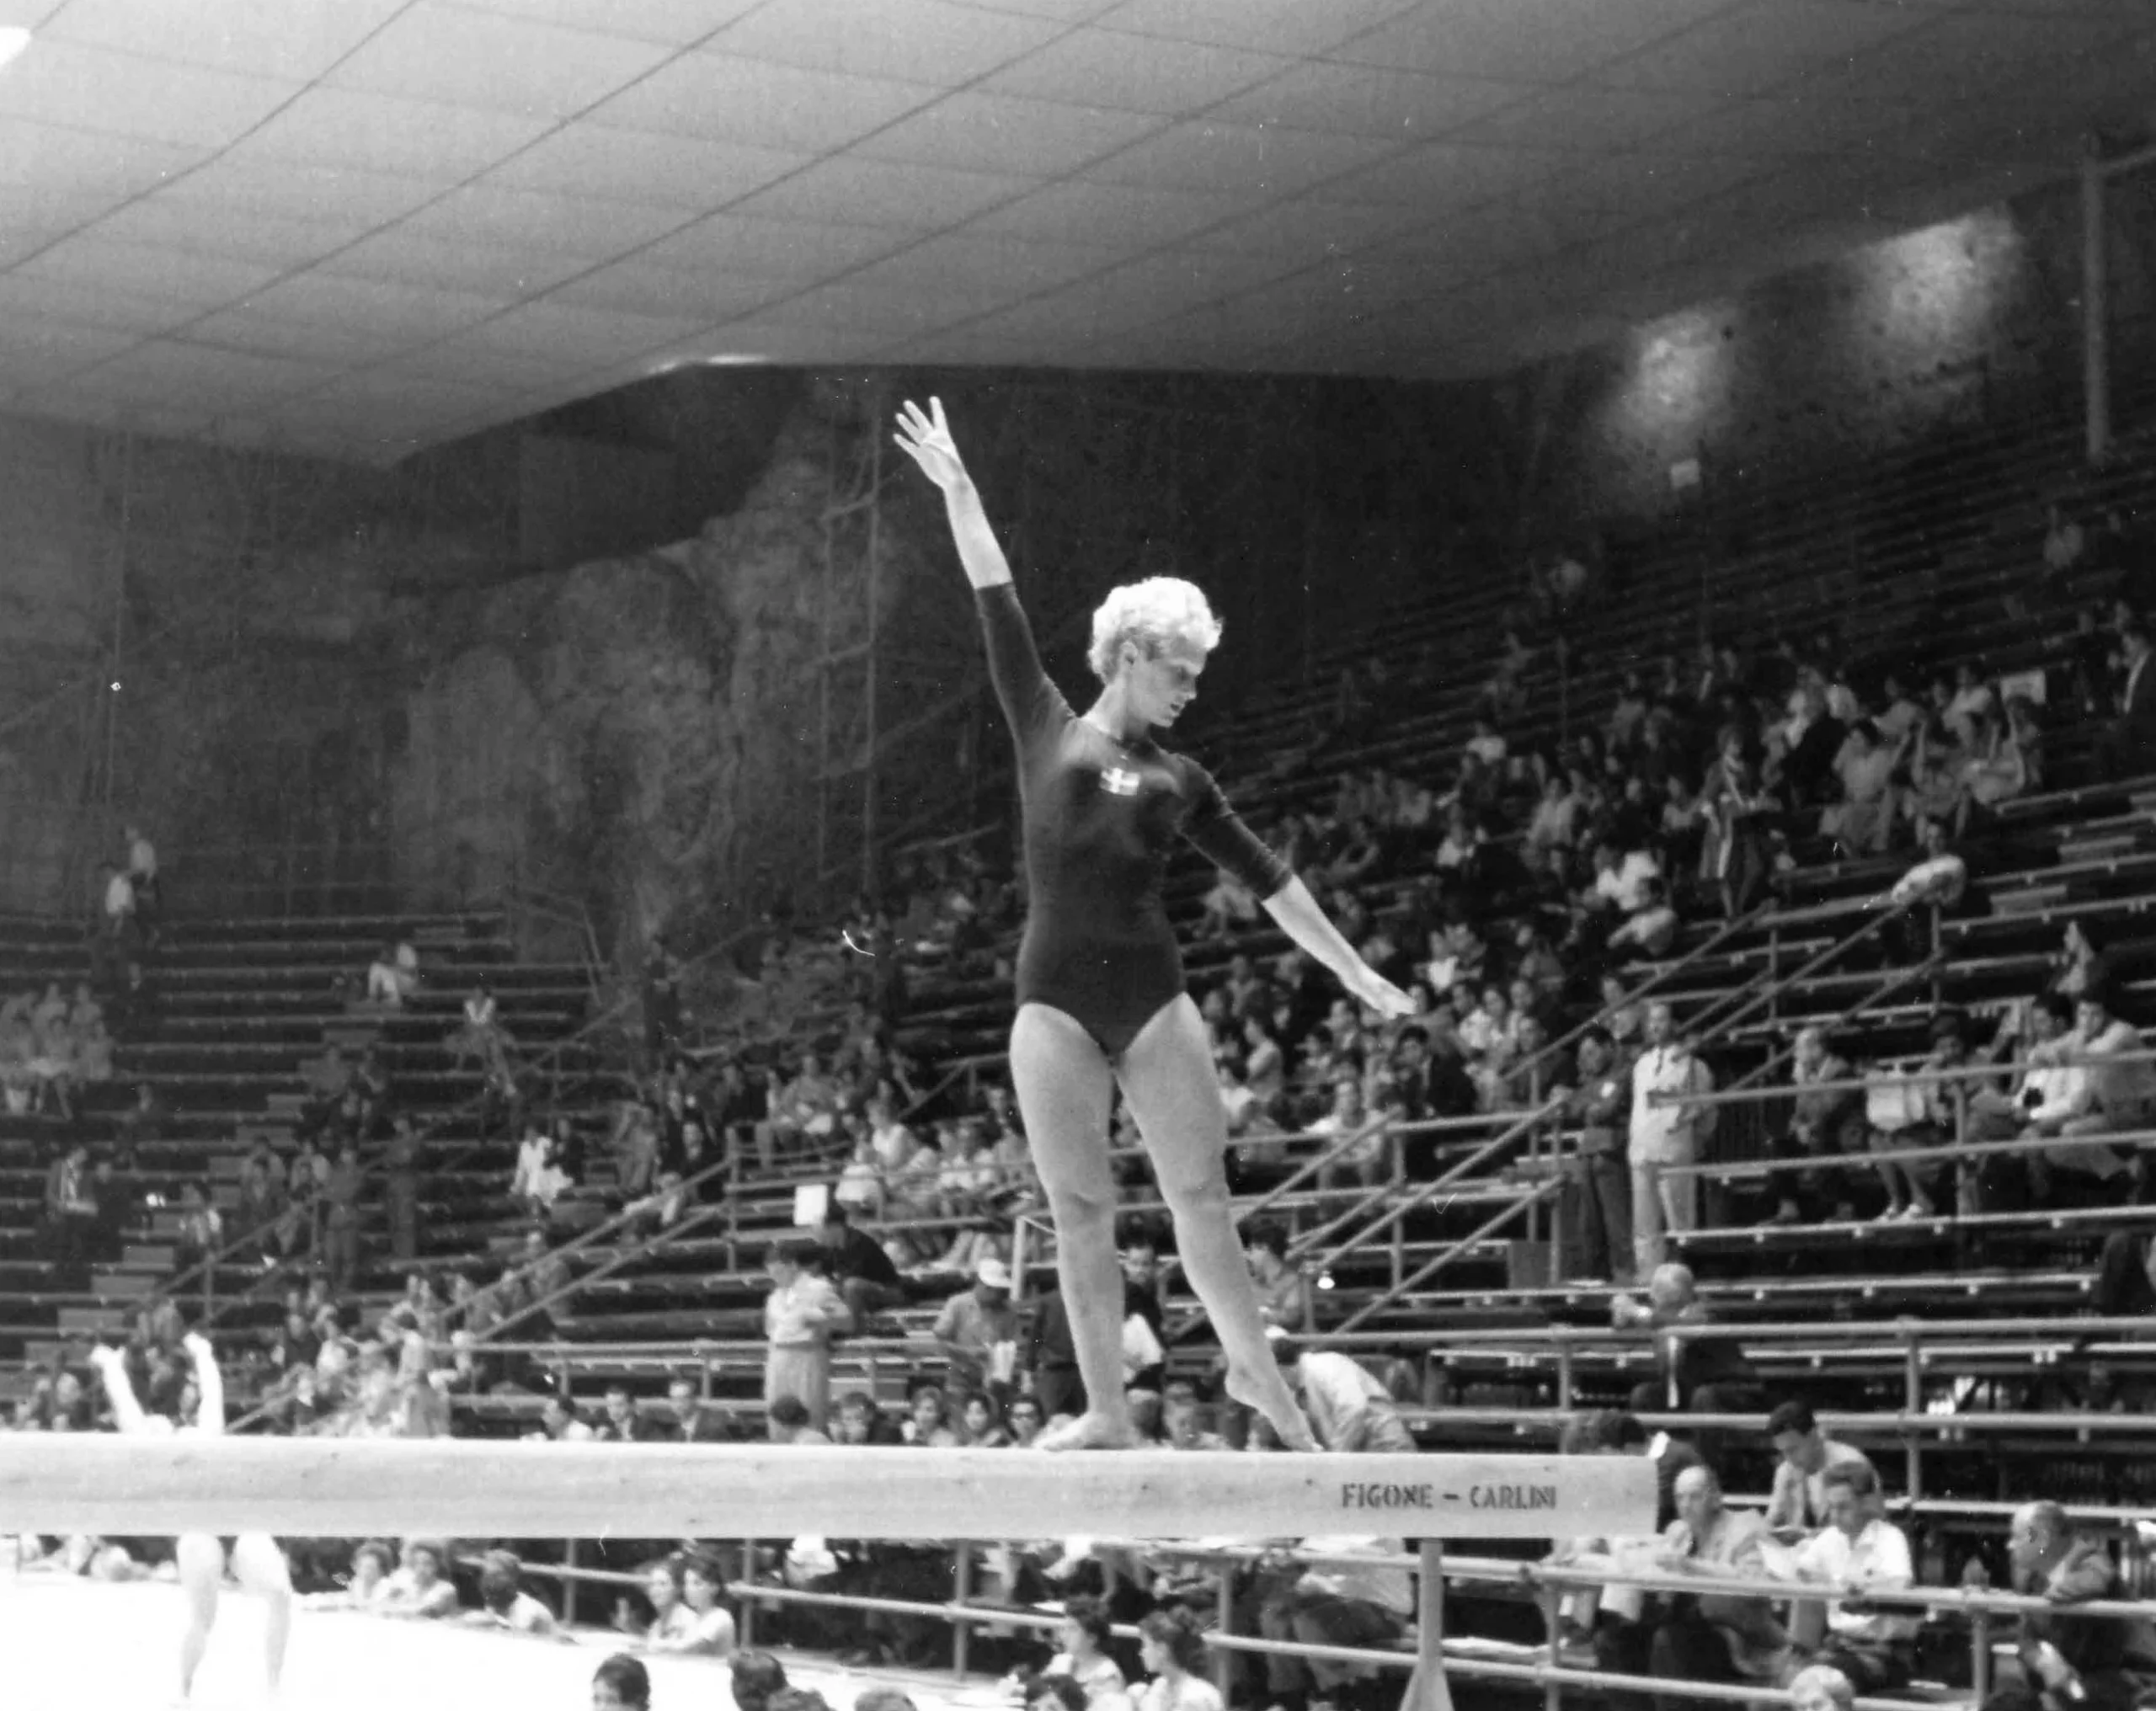
[[[2122,1595],[2111,1549],[2055,1502],[2022,1504],[2007,1534],[2014,1590],[2050,1608],[2020,1616],[2018,1657],[1999,1668],[1981,1711],[2128,1711],[2156,1687],[2156,1629],[2139,1616],[2076,1616]]]

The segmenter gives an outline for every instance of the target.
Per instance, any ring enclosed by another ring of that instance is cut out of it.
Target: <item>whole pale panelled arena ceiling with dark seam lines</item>
[[[1453,377],[2074,172],[2156,0],[0,0],[0,409],[388,461],[681,362]]]

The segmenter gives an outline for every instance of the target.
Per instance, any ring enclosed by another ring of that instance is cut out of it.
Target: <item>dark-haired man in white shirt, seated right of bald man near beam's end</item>
[[[1835,1463],[1820,1474],[1820,1485],[1826,1526],[1798,1547],[1796,1569],[1805,1580],[1848,1588],[1850,1597],[1828,1605],[1818,1642],[1809,1640],[1815,1605],[1796,1605],[1792,1664],[1841,1670],[1861,1694],[1899,1692],[1917,1661],[1921,1618],[1858,1605],[1871,1592],[1895,1592],[1917,1582],[1908,1536],[1880,1515],[1880,1483],[1869,1463]]]

